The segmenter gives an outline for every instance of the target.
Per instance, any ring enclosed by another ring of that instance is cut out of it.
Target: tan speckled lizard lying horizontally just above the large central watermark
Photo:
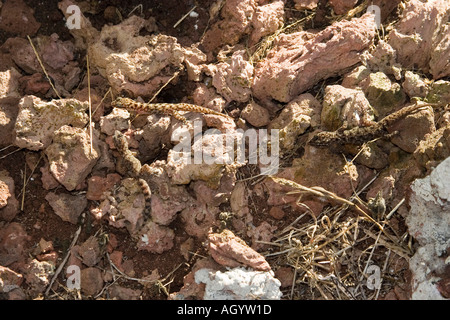
[[[182,121],[183,123],[186,123],[187,120],[179,113],[180,111],[213,114],[216,116],[230,118],[230,116],[226,114],[189,103],[141,103],[130,98],[117,98],[111,103],[111,105],[115,108],[132,110],[138,113],[164,113]]]

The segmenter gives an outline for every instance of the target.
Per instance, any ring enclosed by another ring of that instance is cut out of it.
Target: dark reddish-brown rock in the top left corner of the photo
[[[34,10],[23,0],[7,0],[0,15],[0,29],[25,37],[34,35],[41,24],[34,18]]]

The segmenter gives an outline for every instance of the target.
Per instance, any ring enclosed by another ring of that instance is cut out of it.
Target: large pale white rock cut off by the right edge
[[[429,176],[416,179],[411,190],[406,224],[420,245],[410,261],[412,298],[438,299],[436,274],[444,271],[445,252],[450,248],[450,158]]]

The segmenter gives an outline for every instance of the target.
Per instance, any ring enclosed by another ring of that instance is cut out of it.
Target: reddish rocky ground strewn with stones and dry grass
[[[0,299],[449,298],[450,4],[370,4],[0,2]]]

